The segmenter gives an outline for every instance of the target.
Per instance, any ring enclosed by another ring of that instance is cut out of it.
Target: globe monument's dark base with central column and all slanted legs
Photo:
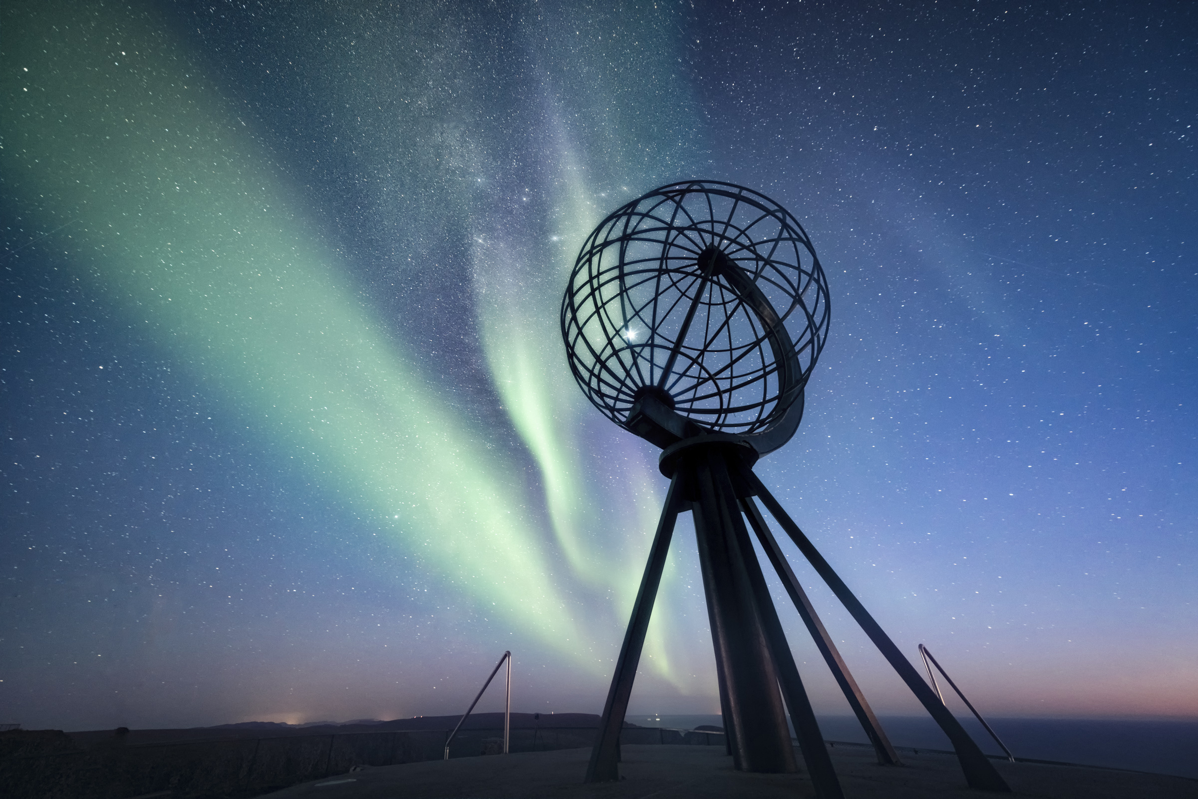
[[[944,730],[952,742],[969,786],[982,791],[1009,793],[1010,787],[993,763],[754,474],[751,468],[754,461],[756,453],[751,447],[736,437],[720,434],[686,439],[662,452],[661,470],[671,477],[670,492],[666,495],[661,520],[649,550],[648,563],[633,606],[633,616],[612,675],[586,781],[606,782],[619,779],[619,731],[628,710],[628,700],[645,645],[653,603],[661,583],[674,523],[678,514],[688,510],[692,511],[695,517],[696,543],[720,682],[720,706],[727,745],[736,767],[745,771],[763,773],[795,770],[797,762],[786,728],[785,714],[788,712],[816,795],[819,799],[843,797],[754,553],[749,537],[750,527],[870,737],[878,761],[891,766],[901,764],[882,725],[878,724],[877,716],[823,628],[770,533],[764,517],[754,502],[752,496],[757,496]],[[748,526],[745,519],[749,522]]]

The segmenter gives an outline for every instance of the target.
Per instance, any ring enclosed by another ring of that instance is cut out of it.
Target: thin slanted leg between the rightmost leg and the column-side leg
[[[752,525],[754,531],[757,533],[757,539],[761,542],[762,549],[766,550],[769,562],[774,565],[774,571],[778,572],[778,577],[786,587],[786,592],[791,594],[791,600],[794,602],[803,623],[806,624],[816,647],[828,664],[828,669],[831,670],[833,677],[836,678],[836,684],[840,685],[845,699],[848,700],[849,707],[853,708],[853,713],[857,715],[857,720],[861,722],[865,734],[869,736],[870,743],[873,744],[873,751],[878,755],[878,763],[883,766],[902,766],[898,754],[890,745],[890,739],[887,738],[887,733],[882,730],[877,716],[873,715],[873,709],[865,700],[865,694],[858,688],[857,681],[853,679],[848,666],[845,665],[845,660],[840,657],[840,652],[836,649],[831,636],[824,629],[823,622],[819,621],[815,608],[811,606],[806,592],[803,591],[798,578],[794,577],[791,565],[786,561],[786,556],[778,545],[778,541],[774,539],[774,535],[769,531],[769,526],[761,516],[757,505],[752,501],[751,496],[743,498],[740,502],[744,506],[745,516],[749,517],[749,524]]]

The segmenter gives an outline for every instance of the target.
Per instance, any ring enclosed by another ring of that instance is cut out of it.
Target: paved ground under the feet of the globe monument
[[[951,755],[903,752],[907,766],[877,764],[872,750],[831,750],[846,799],[979,799],[966,787]],[[815,797],[806,774],[745,774],[716,746],[623,748],[619,782],[582,785],[591,749],[462,757],[452,761],[365,768],[268,794],[271,799],[462,799],[521,797],[555,799],[704,799]],[[1196,799],[1198,781],[1067,766],[994,761],[1015,791],[1028,799]]]

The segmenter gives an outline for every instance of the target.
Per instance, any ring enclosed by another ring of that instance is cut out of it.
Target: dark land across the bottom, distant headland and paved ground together
[[[714,731],[627,725],[621,781],[582,785],[598,716],[512,714],[283,725],[243,722],[186,730],[0,733],[0,785],[24,799],[440,799],[450,797],[815,797],[799,774],[745,774]],[[867,746],[829,746],[847,799],[973,797],[948,752],[900,748],[903,768],[879,767]],[[495,755],[495,756],[482,756]],[[801,763],[801,756],[799,757]],[[1198,797],[1198,781],[1094,767],[996,761],[1009,797],[1124,799]]]

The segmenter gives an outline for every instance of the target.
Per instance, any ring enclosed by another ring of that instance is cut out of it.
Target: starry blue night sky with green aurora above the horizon
[[[688,178],[819,254],[757,472],[900,648],[990,715],[1198,716],[1191,4],[0,14],[0,722],[460,713],[504,649],[514,709],[599,712],[666,481],[558,310]],[[718,712],[690,531],[635,713]]]

